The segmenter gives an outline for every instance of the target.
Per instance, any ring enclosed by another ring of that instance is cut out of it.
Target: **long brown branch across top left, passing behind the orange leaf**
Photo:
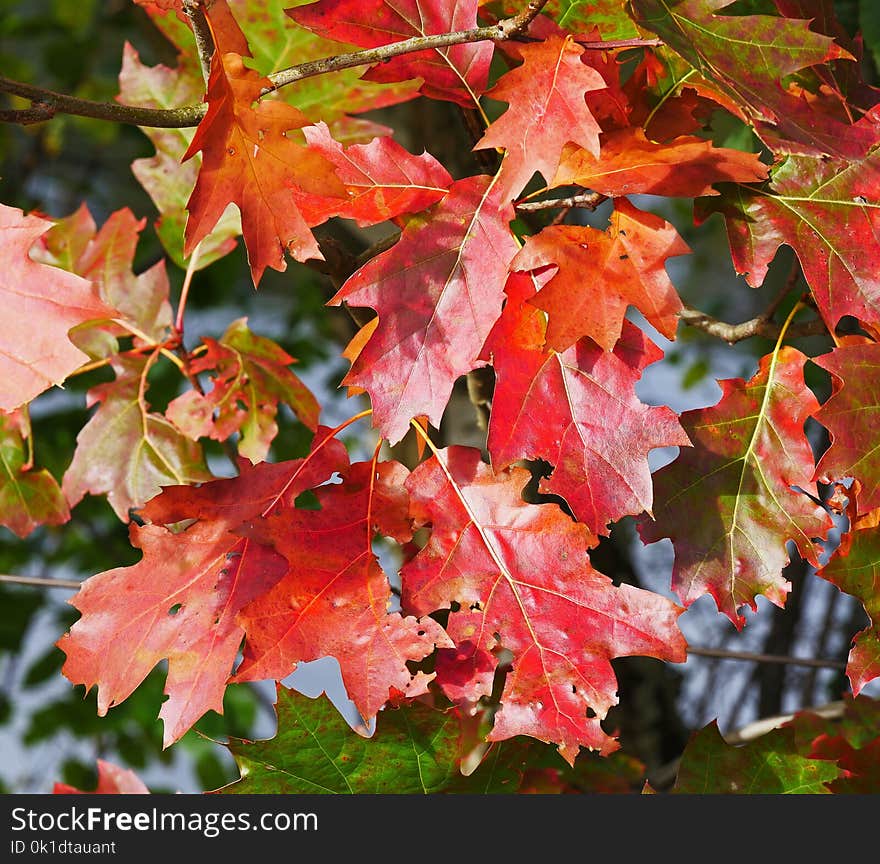
[[[533,0],[518,15],[505,18],[497,24],[488,27],[475,27],[471,30],[457,30],[452,33],[440,33],[434,36],[415,36],[412,39],[404,39],[381,48],[368,48],[364,51],[354,51],[349,54],[337,54],[333,57],[325,57],[298,66],[282,69],[268,75],[272,82],[263,93],[271,93],[294,81],[303,78],[311,78],[315,75],[324,75],[327,72],[336,72],[340,69],[351,69],[356,66],[367,66],[373,63],[381,63],[392,57],[402,54],[411,54],[414,51],[426,49],[446,48],[452,45],[462,45],[468,42],[494,41],[503,42],[513,39],[522,33],[544,8],[547,0]],[[192,4],[190,4],[192,5]],[[196,4],[201,5],[201,4]],[[198,42],[198,35],[196,40]],[[202,49],[200,48],[200,56]],[[11,78],[0,76],[0,93],[11,93],[30,99],[33,102],[45,103],[54,113],[74,114],[78,117],[92,117],[98,120],[110,120],[116,123],[131,123],[135,126],[150,126],[162,129],[182,129],[188,126],[198,126],[202,117],[205,116],[207,105],[188,105],[182,108],[139,108],[133,105],[122,105],[116,102],[93,102],[90,99],[79,99],[76,96],[68,96],[64,93],[56,93],[33,84],[25,84],[14,81]],[[49,119],[48,117],[45,119]],[[37,122],[36,118],[28,122]]]

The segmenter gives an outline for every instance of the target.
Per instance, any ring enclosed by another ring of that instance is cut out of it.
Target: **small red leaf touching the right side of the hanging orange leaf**
[[[343,148],[324,123],[303,132],[309,146],[336,166],[349,196],[303,196],[300,204],[315,224],[343,216],[361,227],[376,225],[430,207],[452,185],[449,172],[430,153],[413,156],[393,138],[384,136]]]

